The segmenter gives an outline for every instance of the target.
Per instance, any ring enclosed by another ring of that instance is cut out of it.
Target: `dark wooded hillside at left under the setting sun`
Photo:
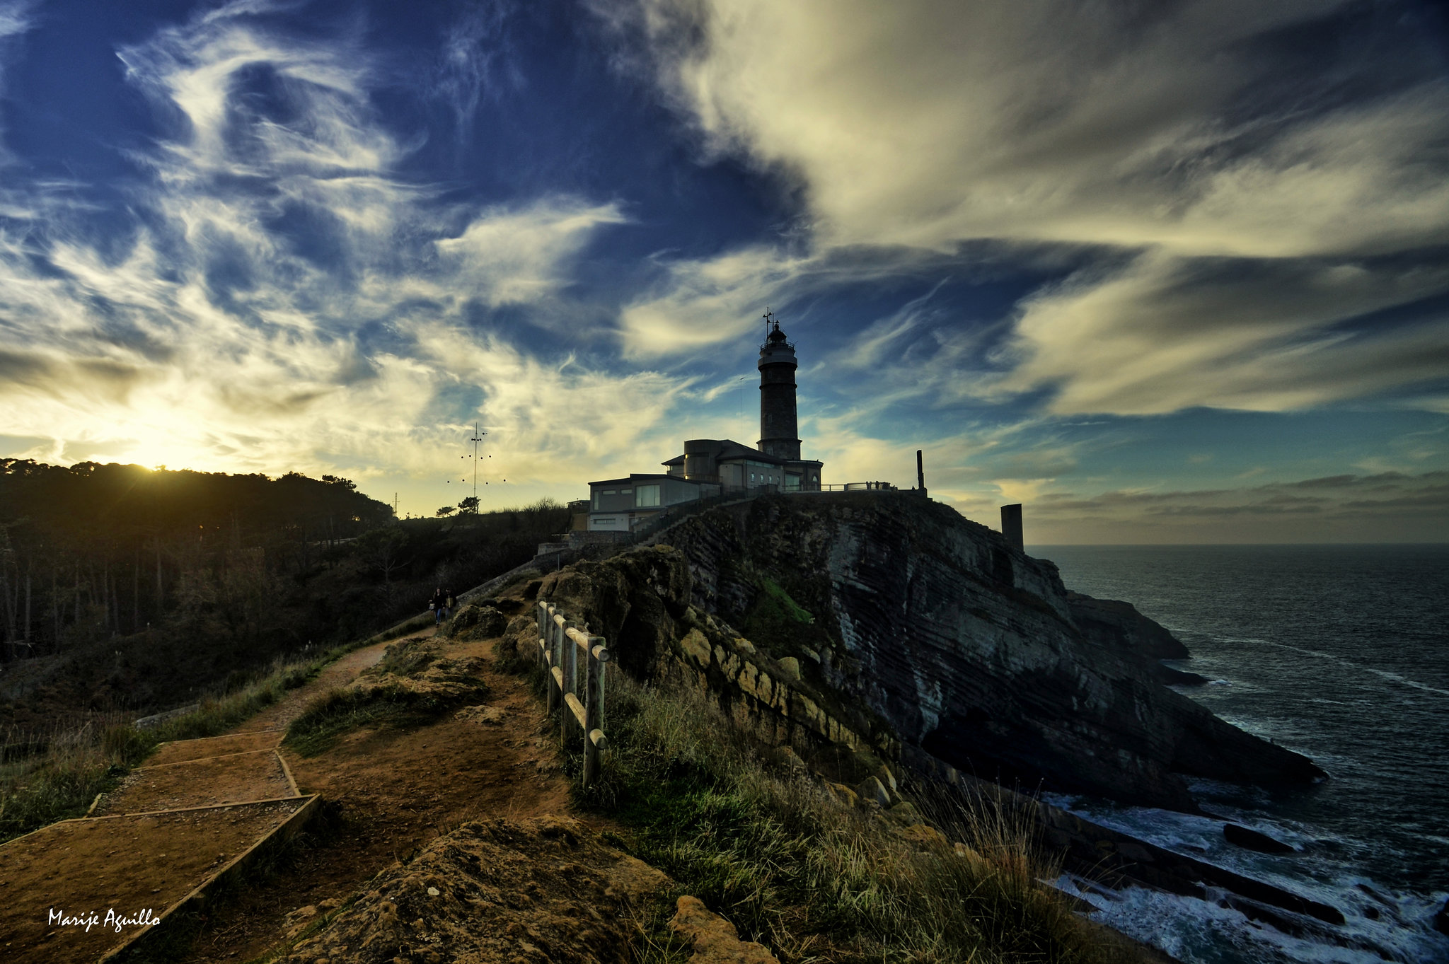
[[[141,712],[365,637],[527,559],[567,511],[393,517],[348,479],[0,462],[0,722]]]

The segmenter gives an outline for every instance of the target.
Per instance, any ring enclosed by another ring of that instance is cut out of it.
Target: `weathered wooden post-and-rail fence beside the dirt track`
[[[575,732],[584,735],[584,786],[598,776],[598,751],[604,740],[604,667],[609,664],[609,650],[604,638],[588,634],[588,624],[580,630],[572,620],[564,617],[554,604],[536,604],[539,625],[539,663],[551,680],[548,709],[559,709],[559,728],[565,750],[568,738]],[[578,653],[584,651],[584,701],[578,699]],[[562,712],[562,709],[568,712]]]

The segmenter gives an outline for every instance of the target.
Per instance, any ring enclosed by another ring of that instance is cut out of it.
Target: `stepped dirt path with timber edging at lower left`
[[[0,847],[0,958],[96,961],[141,926],[107,926],[107,912],[159,915],[267,837],[303,802],[278,751],[287,724],[385,648],[346,654],[229,735],[164,744],[87,818]]]

